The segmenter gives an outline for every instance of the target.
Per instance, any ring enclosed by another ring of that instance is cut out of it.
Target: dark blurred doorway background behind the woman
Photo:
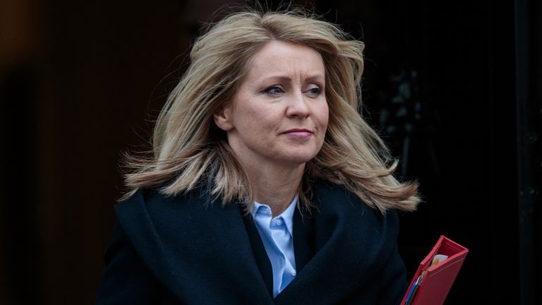
[[[0,0],[0,304],[92,303],[121,152],[148,148],[226,4]],[[409,277],[445,234],[470,249],[446,304],[542,304],[541,2],[294,4],[366,42],[363,115],[424,196],[401,215]]]

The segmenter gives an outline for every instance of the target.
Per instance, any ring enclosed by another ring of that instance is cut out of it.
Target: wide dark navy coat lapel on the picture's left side
[[[119,225],[142,261],[180,300],[272,304],[241,210],[209,203],[202,193],[164,198],[140,192],[117,205]]]

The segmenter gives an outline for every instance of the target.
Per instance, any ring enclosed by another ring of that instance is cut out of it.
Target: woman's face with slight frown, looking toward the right
[[[215,114],[243,165],[299,166],[322,148],[327,128],[322,56],[272,40],[247,64],[233,100]]]

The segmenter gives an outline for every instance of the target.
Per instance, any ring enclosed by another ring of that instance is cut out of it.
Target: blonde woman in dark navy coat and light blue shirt
[[[358,112],[362,51],[291,12],[200,37],[131,158],[97,304],[398,304],[417,186]]]

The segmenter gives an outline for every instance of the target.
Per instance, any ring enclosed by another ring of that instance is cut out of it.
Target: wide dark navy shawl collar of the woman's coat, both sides
[[[379,261],[385,261],[379,255],[390,239],[378,238],[387,234],[385,217],[341,186],[314,189],[315,210],[303,221],[314,225],[315,254],[304,258],[306,265],[275,304],[336,304],[375,278]],[[117,205],[119,225],[142,261],[179,299],[207,287],[202,304],[272,304],[241,210],[222,207],[203,193],[139,192]],[[295,239],[303,230],[294,226],[294,232]]]

